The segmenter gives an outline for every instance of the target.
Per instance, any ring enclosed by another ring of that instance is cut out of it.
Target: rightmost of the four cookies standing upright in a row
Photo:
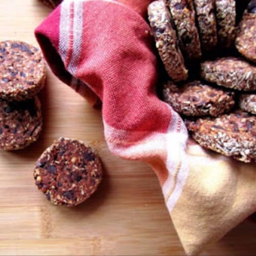
[[[218,42],[228,48],[236,36],[236,1],[215,0]]]

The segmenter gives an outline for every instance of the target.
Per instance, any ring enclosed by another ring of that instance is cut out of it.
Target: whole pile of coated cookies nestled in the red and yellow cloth
[[[203,147],[256,161],[256,0],[238,28],[235,0],[159,0],[148,19],[170,78],[164,101]],[[198,63],[201,71],[190,74]]]

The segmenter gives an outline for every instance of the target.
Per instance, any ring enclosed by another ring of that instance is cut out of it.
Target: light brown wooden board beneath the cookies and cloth
[[[0,0],[0,40],[37,45],[34,28],[50,9],[37,0]],[[0,152],[1,255],[184,255],[150,167],[110,154],[101,113],[48,69],[40,94],[44,131],[18,152]],[[98,191],[76,208],[51,205],[33,180],[36,159],[60,136],[97,148],[104,164]],[[193,199],[191,199],[193,200]],[[245,221],[205,255],[255,255],[256,224]]]

